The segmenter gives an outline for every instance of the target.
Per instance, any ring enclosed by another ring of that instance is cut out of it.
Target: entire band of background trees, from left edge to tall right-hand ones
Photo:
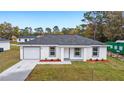
[[[61,30],[58,26],[45,29],[42,27],[20,29],[18,26],[4,22],[0,24],[0,37],[11,39],[12,36],[78,34],[101,42],[124,39],[124,20],[121,11],[88,11],[84,13],[80,21],[82,24],[74,28],[63,27]]]

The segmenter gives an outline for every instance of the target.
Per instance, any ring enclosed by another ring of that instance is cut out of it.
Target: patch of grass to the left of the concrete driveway
[[[0,52],[0,73],[19,62],[19,47],[12,46],[10,50]]]

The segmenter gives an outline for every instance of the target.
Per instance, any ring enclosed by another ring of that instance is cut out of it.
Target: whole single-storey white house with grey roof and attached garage
[[[107,46],[78,35],[44,35],[20,44],[20,59],[106,59]]]

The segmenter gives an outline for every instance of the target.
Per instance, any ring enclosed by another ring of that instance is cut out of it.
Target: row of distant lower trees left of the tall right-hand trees
[[[11,23],[1,23],[0,24],[0,37],[6,39],[12,39],[12,36],[38,36],[43,34],[78,34],[80,31],[79,27],[76,28],[65,28],[61,30],[58,26],[54,26],[52,29],[47,27],[43,30],[42,27],[37,27],[32,29],[31,27],[25,27],[20,29],[18,26],[12,26]]]

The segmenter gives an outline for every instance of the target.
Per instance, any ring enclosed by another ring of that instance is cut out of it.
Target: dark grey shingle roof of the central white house
[[[104,45],[99,41],[88,39],[79,35],[44,35],[21,44],[41,45]]]

